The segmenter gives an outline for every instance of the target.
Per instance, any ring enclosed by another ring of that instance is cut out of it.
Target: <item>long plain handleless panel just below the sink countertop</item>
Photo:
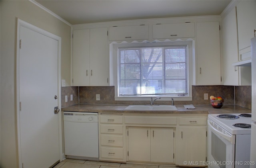
[[[176,117],[156,117],[156,116],[125,116],[124,122],[127,124],[160,124],[176,125]]]

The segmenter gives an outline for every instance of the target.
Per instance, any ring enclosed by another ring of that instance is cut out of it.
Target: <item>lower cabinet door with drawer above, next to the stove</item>
[[[180,118],[176,131],[176,165],[205,166],[206,117]]]

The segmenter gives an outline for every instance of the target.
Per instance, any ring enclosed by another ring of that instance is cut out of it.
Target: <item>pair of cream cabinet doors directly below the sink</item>
[[[173,128],[128,127],[128,160],[173,162]]]

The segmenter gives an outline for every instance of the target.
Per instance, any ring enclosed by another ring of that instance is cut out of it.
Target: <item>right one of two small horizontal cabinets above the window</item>
[[[156,24],[152,29],[153,39],[195,37],[194,23]]]

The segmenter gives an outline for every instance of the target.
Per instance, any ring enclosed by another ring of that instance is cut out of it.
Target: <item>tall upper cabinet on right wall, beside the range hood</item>
[[[233,66],[239,60],[238,29],[236,8],[233,8],[222,18],[223,41],[223,84],[228,86],[251,85],[251,68],[248,66]]]

